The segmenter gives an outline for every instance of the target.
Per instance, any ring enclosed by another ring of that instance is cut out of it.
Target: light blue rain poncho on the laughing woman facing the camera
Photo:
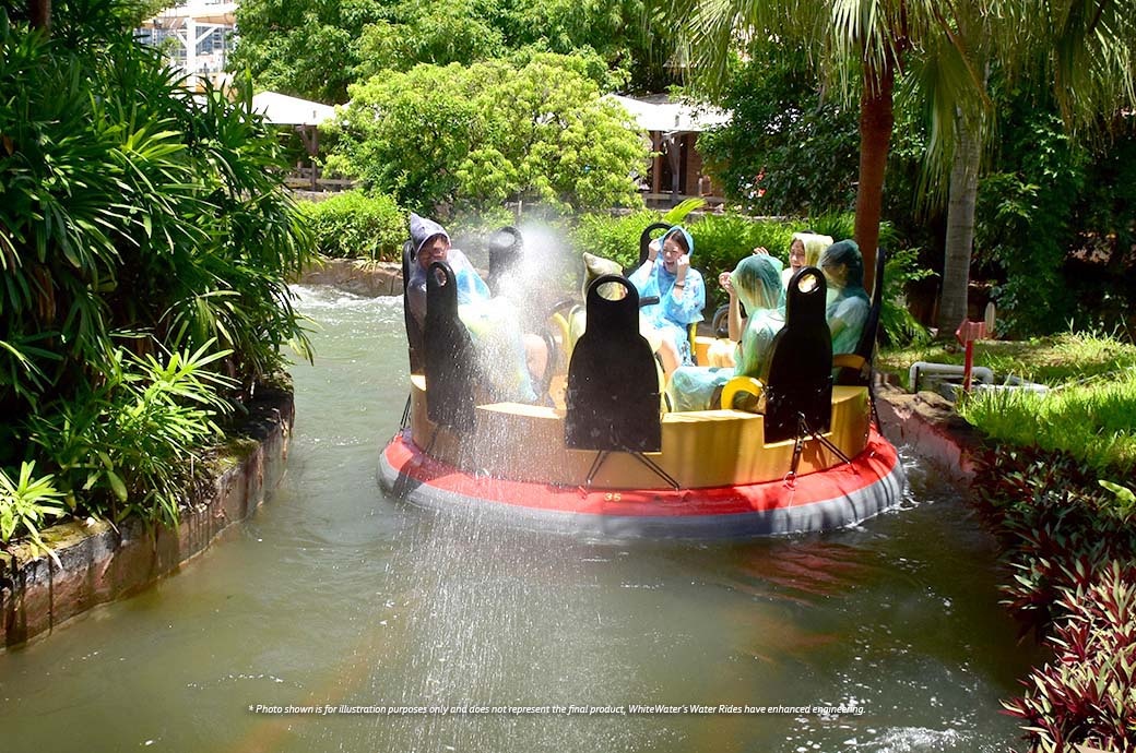
[[[678,225],[667,231],[667,234],[660,239],[660,243],[666,242],[667,237],[676,233],[682,234],[686,241],[686,248],[690,249],[688,254],[693,256],[694,240],[685,228]],[[683,363],[693,363],[687,327],[702,321],[702,309],[707,304],[707,288],[705,283],[702,282],[702,275],[691,267],[686,270],[685,287],[676,288],[675,275],[667,271],[666,265],[659,259],[653,265],[648,265],[644,261],[627,279],[638,291],[640,298],[659,296],[658,303],[645,306],[640,311],[646,321],[659,329],[665,337],[674,340]]]

